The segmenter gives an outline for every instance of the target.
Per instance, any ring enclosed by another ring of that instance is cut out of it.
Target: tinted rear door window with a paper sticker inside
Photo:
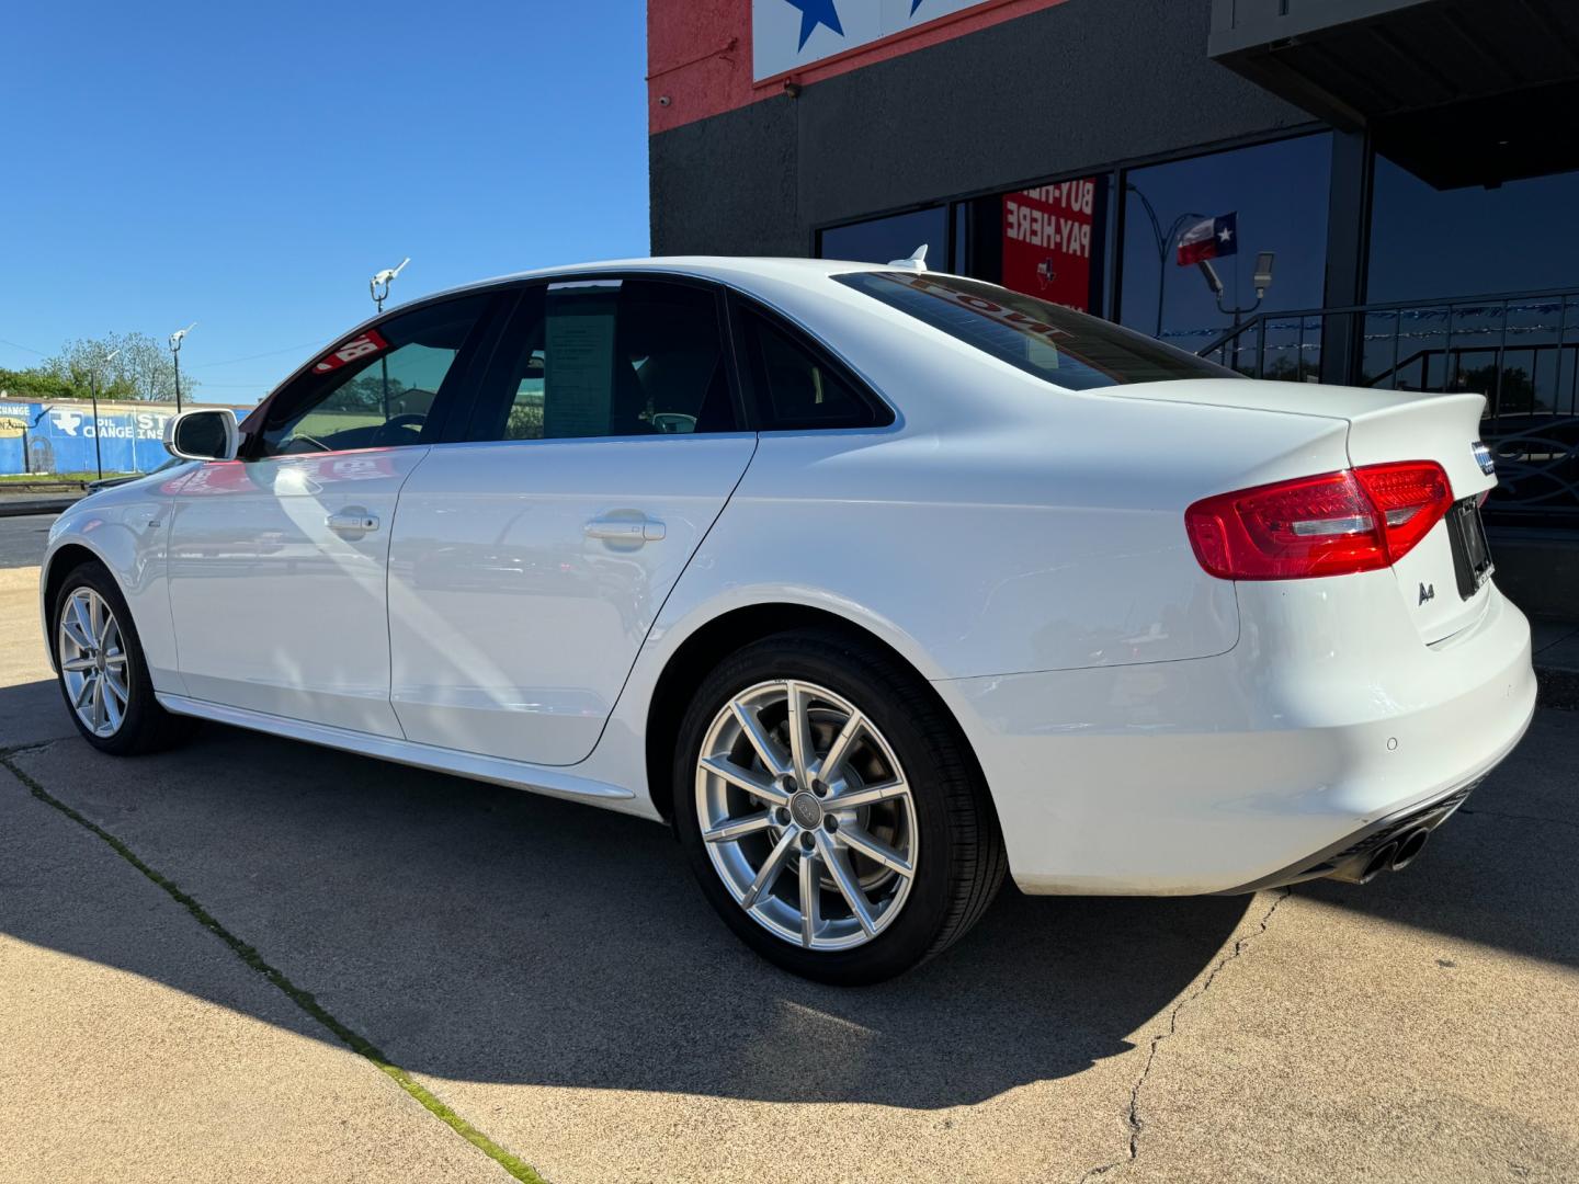
[[[513,350],[513,357],[512,357]],[[589,279],[523,294],[501,384],[475,440],[736,431],[718,298],[652,279]]]

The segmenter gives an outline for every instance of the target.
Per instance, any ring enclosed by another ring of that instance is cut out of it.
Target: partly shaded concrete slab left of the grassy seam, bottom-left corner
[[[104,843],[0,789],[0,1178],[508,1179]]]

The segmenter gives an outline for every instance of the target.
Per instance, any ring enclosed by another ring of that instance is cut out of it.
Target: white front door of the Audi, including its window
[[[399,736],[395,504],[464,390],[491,300],[428,305],[339,343],[270,401],[246,459],[182,486],[169,587],[189,696]]]

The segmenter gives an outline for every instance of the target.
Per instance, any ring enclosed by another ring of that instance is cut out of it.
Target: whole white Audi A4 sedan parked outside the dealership
[[[55,524],[44,630],[103,751],[216,720],[662,821],[758,952],[873,982],[1006,871],[1412,862],[1535,704],[1481,410],[914,260],[527,273],[178,417]]]

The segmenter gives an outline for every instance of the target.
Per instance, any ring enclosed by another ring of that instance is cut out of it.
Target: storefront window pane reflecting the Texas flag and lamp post
[[[1273,283],[1255,311],[1320,308],[1331,152],[1331,134],[1318,133],[1124,174],[1120,320],[1198,350],[1233,327],[1232,309],[1255,306],[1257,256],[1265,251],[1274,253]],[[1211,219],[1216,257],[1206,254],[1222,281],[1221,302],[1194,262],[1180,264],[1181,235]],[[1276,319],[1268,327],[1268,377],[1314,373],[1320,335],[1303,328]]]

